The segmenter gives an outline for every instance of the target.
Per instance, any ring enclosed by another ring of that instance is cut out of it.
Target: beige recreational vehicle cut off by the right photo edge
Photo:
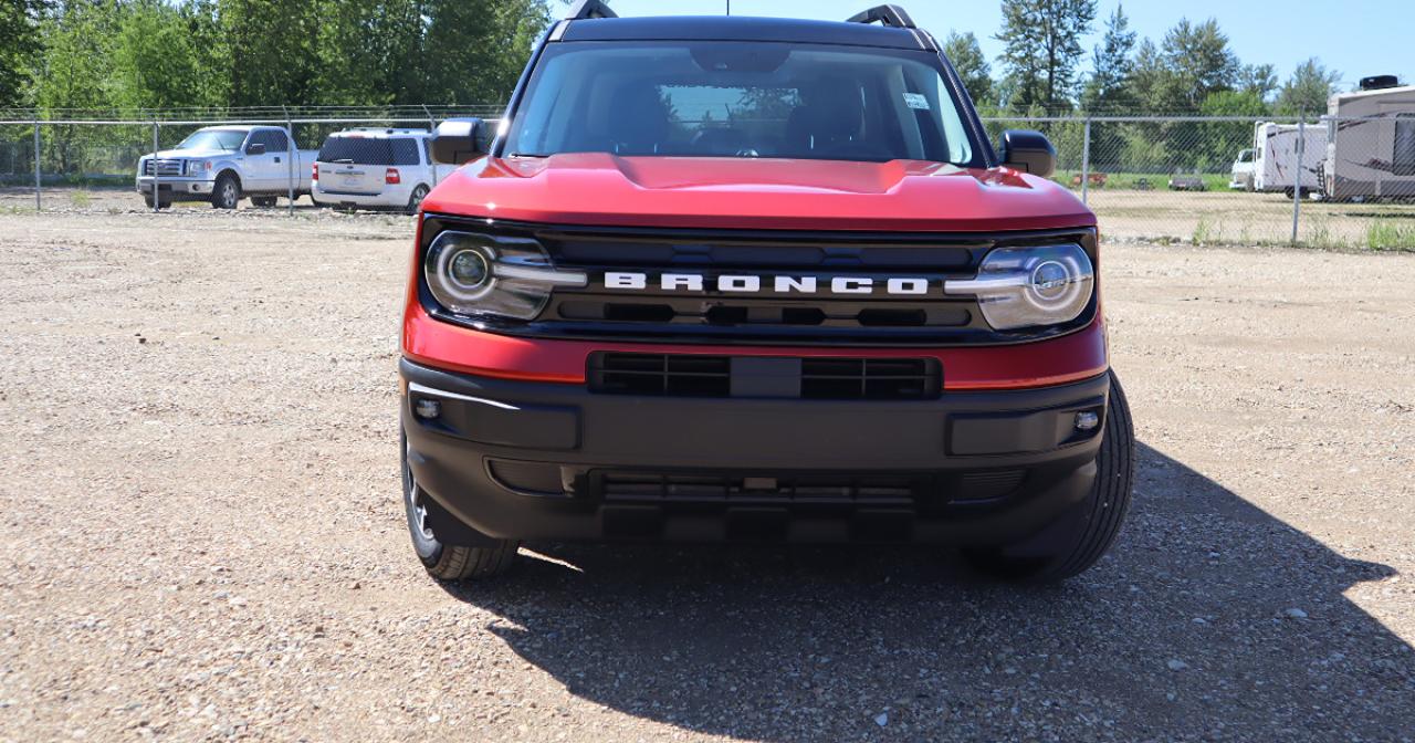
[[[1332,96],[1322,188],[1336,201],[1415,198],[1415,85],[1361,81]]]

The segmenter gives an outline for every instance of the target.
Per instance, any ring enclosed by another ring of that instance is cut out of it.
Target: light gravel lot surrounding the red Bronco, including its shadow
[[[122,212],[122,207],[115,207]],[[1415,255],[1114,245],[1131,521],[427,579],[405,217],[0,214],[0,740],[1411,740]]]

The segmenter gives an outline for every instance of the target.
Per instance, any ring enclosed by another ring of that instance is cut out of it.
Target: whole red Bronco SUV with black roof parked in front
[[[403,490],[441,579],[522,539],[924,542],[1056,580],[1112,543],[1133,434],[1095,217],[993,149],[938,42],[848,23],[549,30],[422,205]]]

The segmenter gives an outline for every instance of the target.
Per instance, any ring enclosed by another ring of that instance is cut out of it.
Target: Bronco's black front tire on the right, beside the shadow
[[[1084,573],[1121,534],[1135,487],[1135,427],[1121,381],[1111,372],[1111,403],[1105,415],[1095,483],[1084,501],[1061,515],[1033,541],[1006,548],[969,549],[964,558],[990,577],[1024,583],[1054,583]],[[1056,529],[1063,529],[1061,535]]]

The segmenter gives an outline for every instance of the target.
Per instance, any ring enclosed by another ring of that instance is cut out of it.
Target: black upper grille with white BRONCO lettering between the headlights
[[[531,323],[483,324],[518,335],[642,342],[949,345],[1022,342],[1070,333],[1065,326],[995,331],[975,299],[945,294],[969,279],[998,245],[1078,243],[1095,256],[1091,229],[1027,234],[866,234],[549,226],[464,222],[432,215],[441,229],[533,238],[558,267],[589,283],[559,286]],[[427,296],[424,294],[424,301]],[[429,306],[436,314],[436,307]],[[449,317],[457,321],[454,317]]]

